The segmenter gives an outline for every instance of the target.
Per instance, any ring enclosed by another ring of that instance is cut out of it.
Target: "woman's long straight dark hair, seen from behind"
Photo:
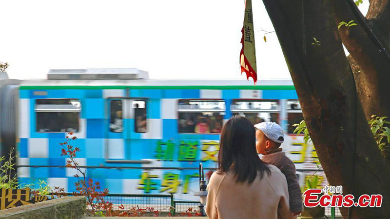
[[[233,166],[232,166],[233,165]],[[252,183],[260,173],[271,173],[270,168],[256,152],[255,130],[253,124],[244,117],[234,116],[222,127],[218,153],[218,170],[227,172],[230,169],[236,181]]]

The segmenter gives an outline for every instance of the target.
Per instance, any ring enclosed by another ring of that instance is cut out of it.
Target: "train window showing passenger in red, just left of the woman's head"
[[[220,133],[224,100],[179,100],[179,133]]]

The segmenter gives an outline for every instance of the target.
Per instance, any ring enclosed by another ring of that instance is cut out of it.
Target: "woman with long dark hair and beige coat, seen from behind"
[[[234,116],[222,128],[218,171],[207,187],[209,219],[293,219],[285,176],[259,159],[255,130]]]

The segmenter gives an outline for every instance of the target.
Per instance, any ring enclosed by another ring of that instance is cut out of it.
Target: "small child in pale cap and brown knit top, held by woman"
[[[289,159],[280,144],[284,141],[283,129],[275,122],[261,122],[254,125],[256,128],[256,151],[263,154],[263,161],[280,169],[286,176],[290,195],[290,211],[294,216],[302,212],[302,194],[298,179],[295,174],[295,166]]]

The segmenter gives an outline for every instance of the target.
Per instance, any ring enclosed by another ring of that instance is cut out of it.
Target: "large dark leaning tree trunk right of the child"
[[[358,100],[331,1],[263,2],[329,183],[355,197],[383,195],[381,208],[350,208],[352,219],[389,219],[390,171]],[[349,209],[340,210],[347,218]]]

